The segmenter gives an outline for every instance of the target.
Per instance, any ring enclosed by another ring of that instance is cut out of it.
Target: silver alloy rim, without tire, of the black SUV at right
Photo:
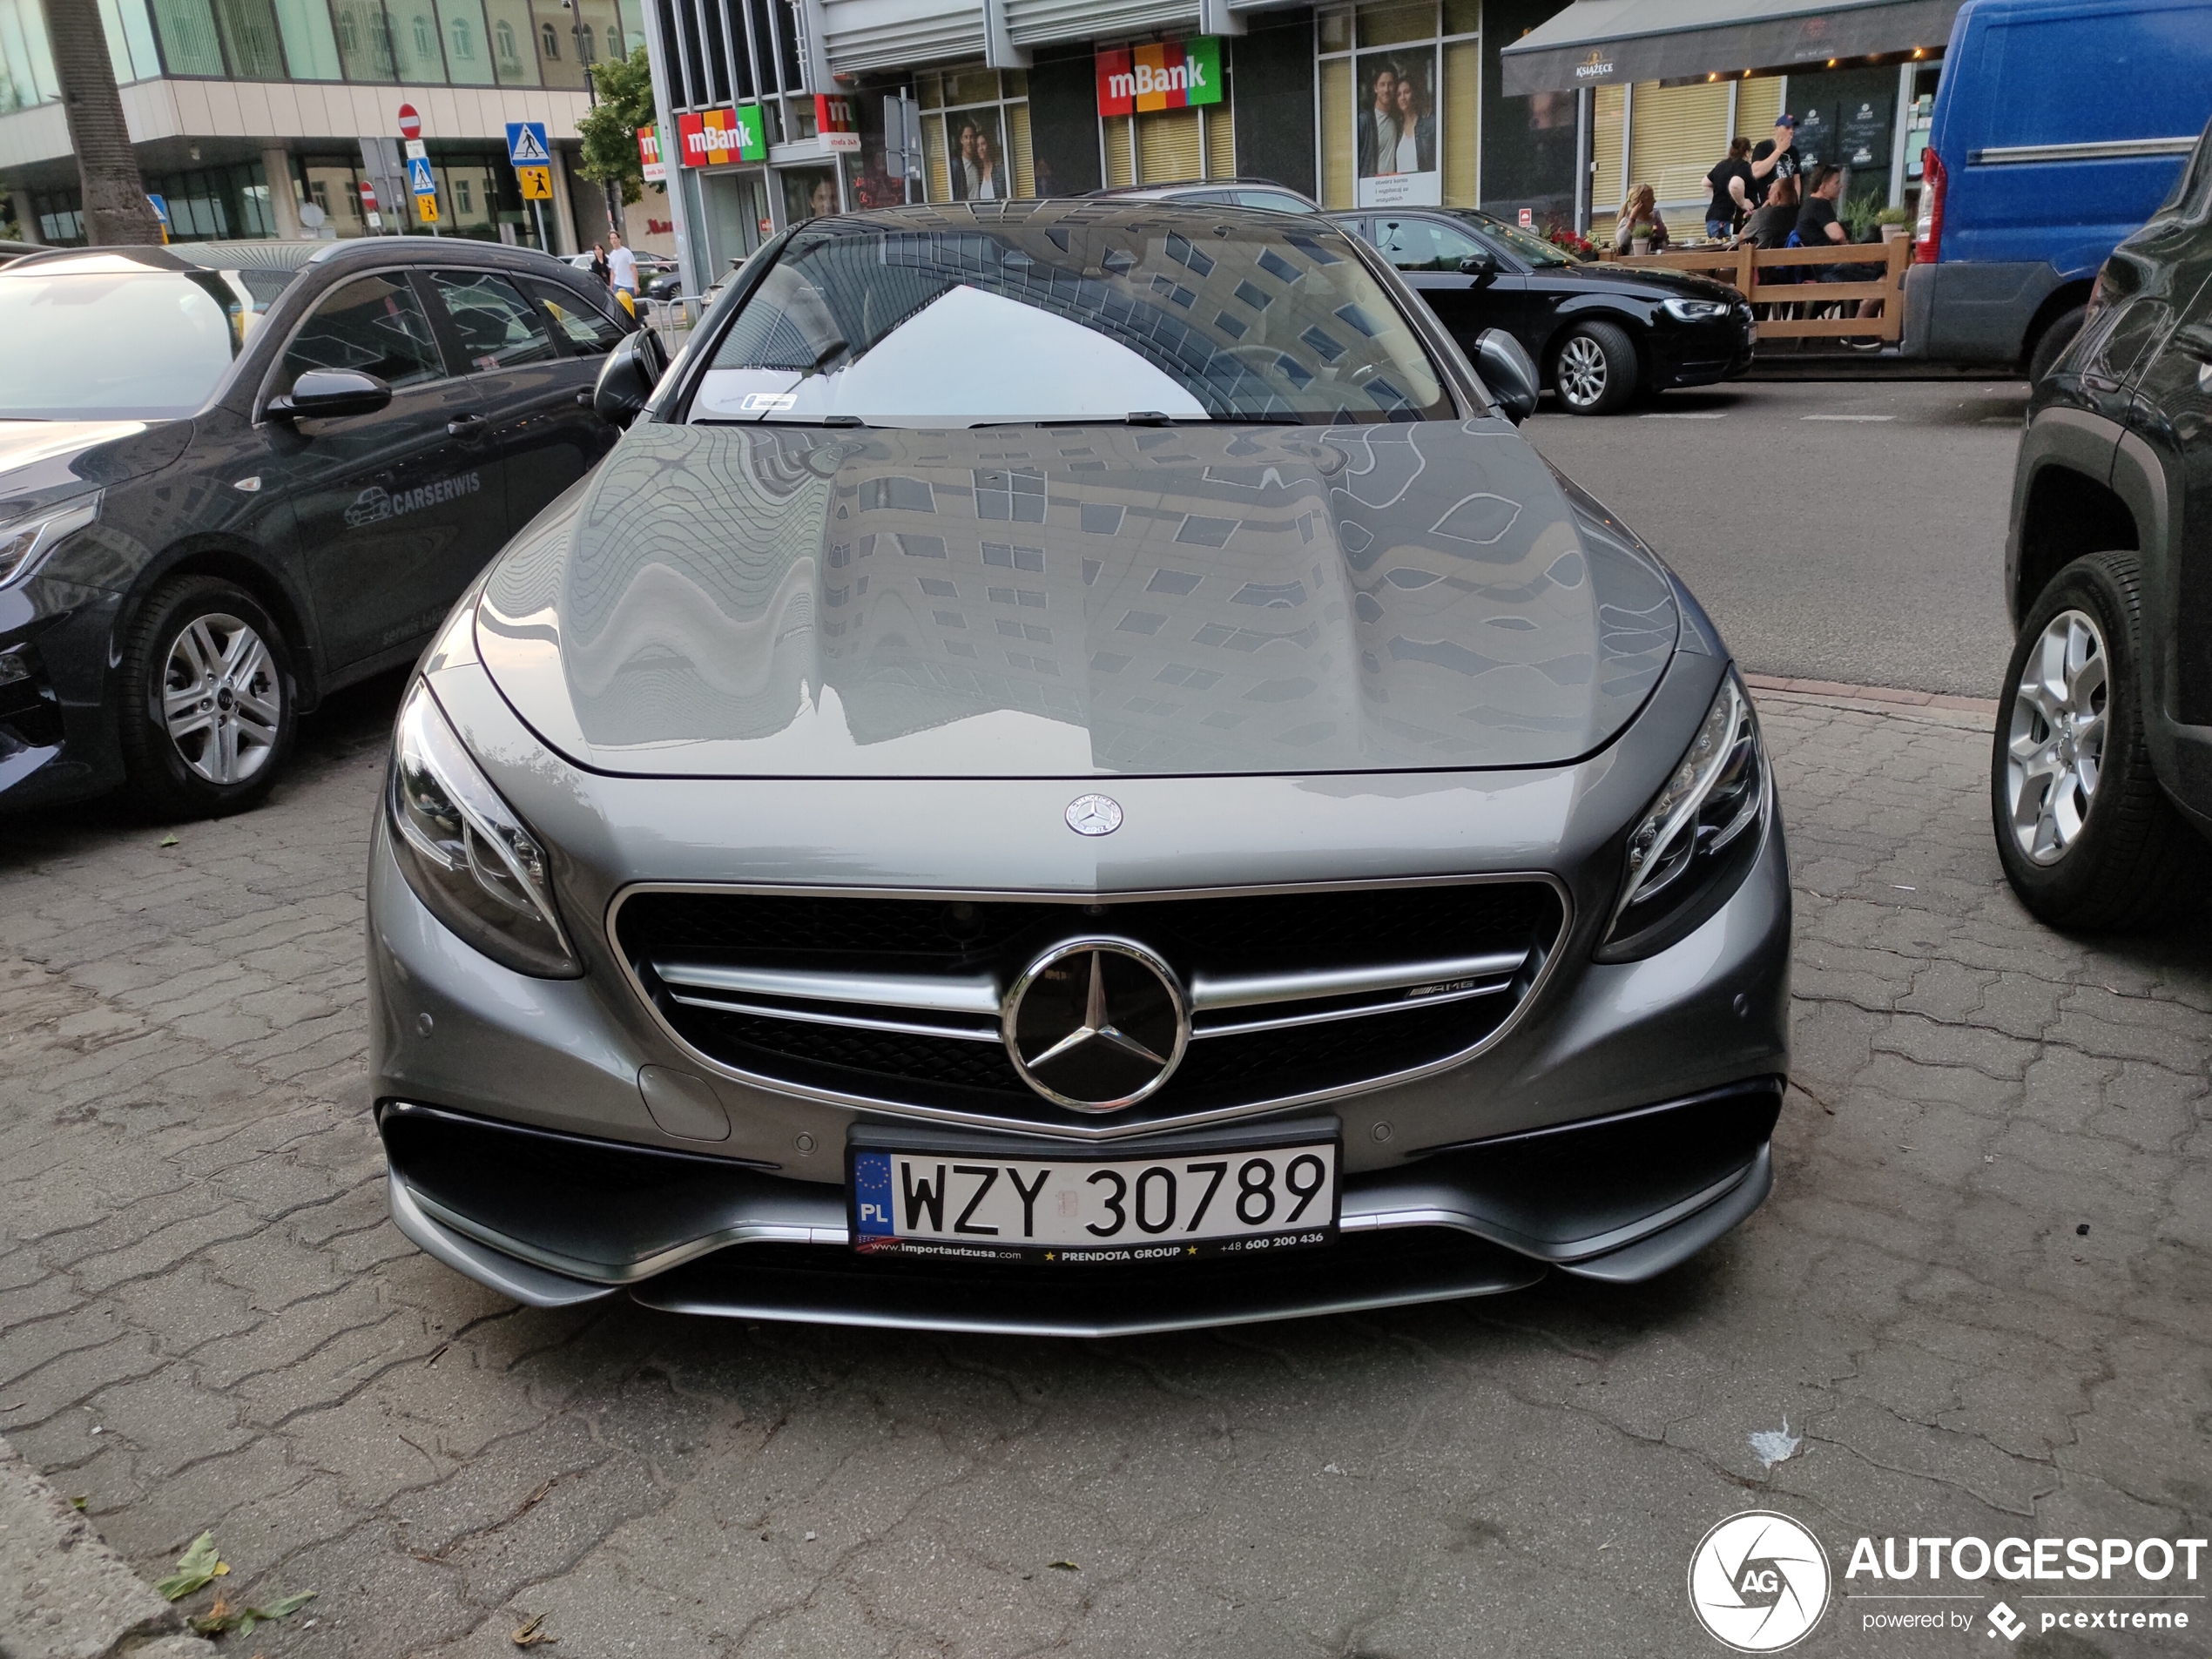
[[[2013,688],[2004,787],[2013,838],[2055,865],[2081,838],[2104,772],[2110,677],[2104,633],[2086,611],[2059,611]]]

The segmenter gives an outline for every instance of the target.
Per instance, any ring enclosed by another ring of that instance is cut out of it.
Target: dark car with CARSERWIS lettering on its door
[[[274,781],[584,476],[635,330],[458,239],[40,252],[0,270],[0,807]]]

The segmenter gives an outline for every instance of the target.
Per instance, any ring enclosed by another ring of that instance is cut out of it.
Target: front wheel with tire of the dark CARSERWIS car
[[[246,588],[210,575],[166,582],[139,606],[122,699],[131,794],[159,818],[259,805],[299,723],[290,644]]]

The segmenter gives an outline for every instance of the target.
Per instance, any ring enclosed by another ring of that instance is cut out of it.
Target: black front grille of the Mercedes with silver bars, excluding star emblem
[[[1197,1002],[1177,1073],[1113,1115],[1150,1124],[1460,1055],[1522,1004],[1562,925],[1544,880],[1095,902],[639,891],[617,907],[615,945],[677,1035],[737,1071],[885,1104],[1099,1124],[1022,1082],[998,1042],[998,998],[1062,940],[1135,940]],[[1329,993],[1298,978],[1347,973],[1349,989]],[[1283,991],[1292,980],[1305,989]]]

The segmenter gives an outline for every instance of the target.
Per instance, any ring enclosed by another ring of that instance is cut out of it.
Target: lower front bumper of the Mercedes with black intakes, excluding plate
[[[648,1307],[732,1318],[1135,1336],[1495,1294],[1546,1267],[1650,1279],[1765,1199],[1781,1097],[1781,1077],[1756,1077],[1451,1148],[1349,1179],[1343,1237],[1321,1256],[1133,1270],[858,1256],[843,1188],[409,1102],[383,1102],[378,1128],[398,1228],[533,1307],[628,1290]]]

